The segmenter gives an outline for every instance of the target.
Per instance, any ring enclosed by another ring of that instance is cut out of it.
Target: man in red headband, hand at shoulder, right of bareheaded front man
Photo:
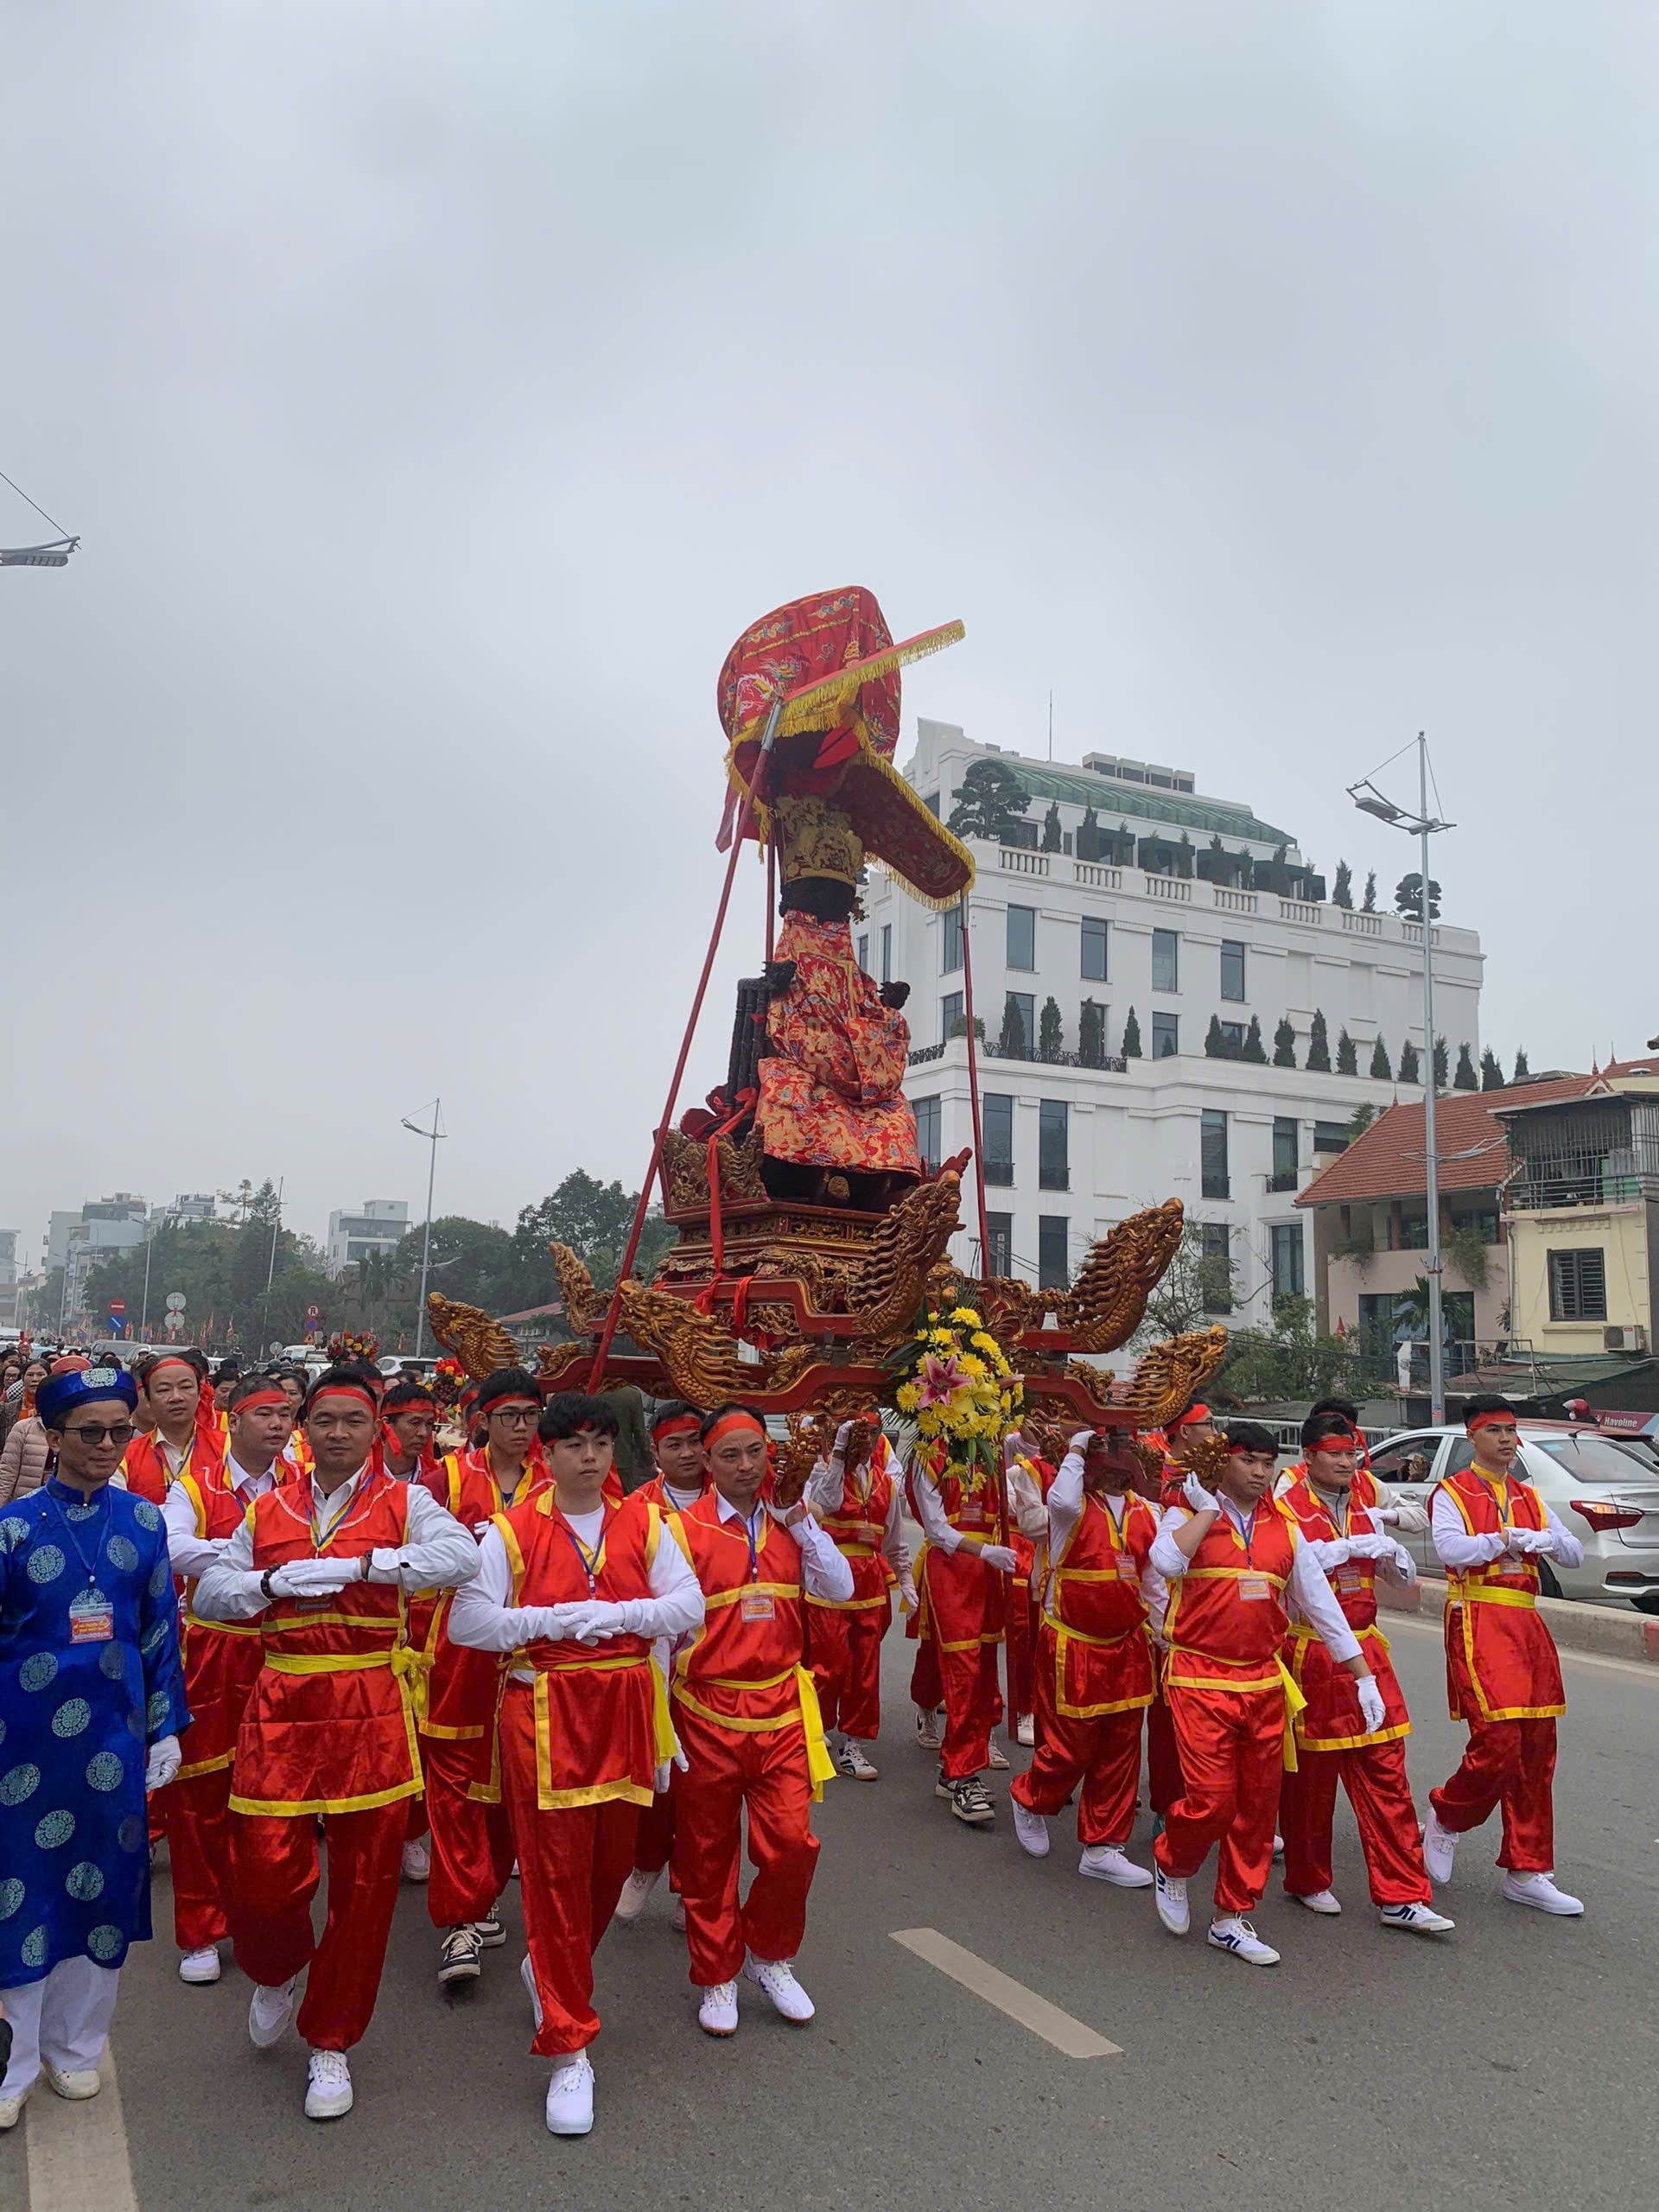
[[[834,1765],[801,1663],[803,1599],[845,1601],[852,1568],[805,1504],[761,1504],[765,1425],[752,1407],[714,1407],[701,1436],[710,1489],[672,1522],[706,1606],[701,1630],[675,1655],[672,1714],[686,1756],[675,1874],[701,1991],[697,2024],[734,2035],[739,1971],[785,2020],[812,2020],[792,1962],[818,1856],[812,1803]],[[739,1907],[743,1812],[754,1880]]]

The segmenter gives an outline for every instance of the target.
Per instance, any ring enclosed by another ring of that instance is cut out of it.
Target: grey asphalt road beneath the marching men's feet
[[[1407,1619],[1391,1635],[1422,1798],[1455,1761],[1462,1730],[1444,1719],[1438,1632]],[[883,1776],[832,1783],[821,1809],[801,1958],[818,2004],[810,2028],[787,2028],[748,1991],[741,2033],[703,2037],[664,1885],[599,1955],[597,2128],[553,2141],[546,2064],[526,2048],[518,1898],[509,1949],[487,1955],[471,2000],[445,2004],[422,1891],[405,1889],[380,2006],[352,2055],[356,2110],[316,2126],[301,2117],[303,2051],[248,2044],[248,1984],[228,1971],[215,1989],[181,1989],[170,1944],[157,1942],[133,1953],[113,2037],[126,2203],[1606,2212],[1652,2201],[1659,1670],[1566,1659],[1557,1867],[1586,1898],[1584,1920],[1502,1902],[1493,1823],[1464,1840],[1444,1893],[1455,1936],[1385,1931],[1343,1807],[1345,1916],[1314,1920],[1270,1889],[1256,1920],[1285,1962],[1254,1971],[1203,1944],[1206,1878],[1194,1882],[1197,1931],[1175,1942],[1150,1893],[1077,1878],[1064,1818],[1040,1865],[1015,1845],[1006,1812],[989,1834],[951,1820],[909,1741],[909,1650],[894,1637],[887,1657]],[[1141,1814],[1141,1858],[1146,1829]],[[159,1871],[157,1927],[166,1920]],[[1064,2057],[891,1940],[918,1927],[1121,2055]],[[35,2101],[46,2112],[31,2106],[0,2141],[0,2208],[80,2201],[100,2212],[104,2183],[62,2163],[95,2106],[58,2106],[44,2090]],[[113,2117],[108,2099],[102,2126]]]

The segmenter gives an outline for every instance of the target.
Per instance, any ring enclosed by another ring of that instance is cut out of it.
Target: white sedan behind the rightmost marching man
[[[1659,1613],[1659,1469],[1648,1453],[1562,1420],[1522,1420],[1520,1449],[1526,1480],[1584,1544],[1584,1566],[1537,1562],[1544,1595]],[[1378,1444],[1371,1471],[1427,1504],[1433,1484],[1473,1455],[1462,1429],[1407,1429]],[[1402,1542],[1429,1575],[1444,1573],[1427,1528]]]

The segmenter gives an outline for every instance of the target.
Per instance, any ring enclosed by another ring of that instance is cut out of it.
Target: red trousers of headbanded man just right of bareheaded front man
[[[745,1734],[681,1703],[675,1730],[690,1761],[675,1785],[675,1874],[686,1900],[690,1978],[712,1989],[737,1980],[745,1951],[779,1960],[801,1949],[818,1858],[807,1745],[799,1721]],[[739,1907],[745,1807],[754,1880]]]

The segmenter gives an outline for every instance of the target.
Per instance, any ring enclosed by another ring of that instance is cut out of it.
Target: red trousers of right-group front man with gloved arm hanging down
[[[1177,1688],[1168,1699],[1186,1783],[1157,1838],[1157,1863],[1186,1878],[1219,1845],[1217,1913],[1254,1911],[1274,1863],[1285,1697]]]

